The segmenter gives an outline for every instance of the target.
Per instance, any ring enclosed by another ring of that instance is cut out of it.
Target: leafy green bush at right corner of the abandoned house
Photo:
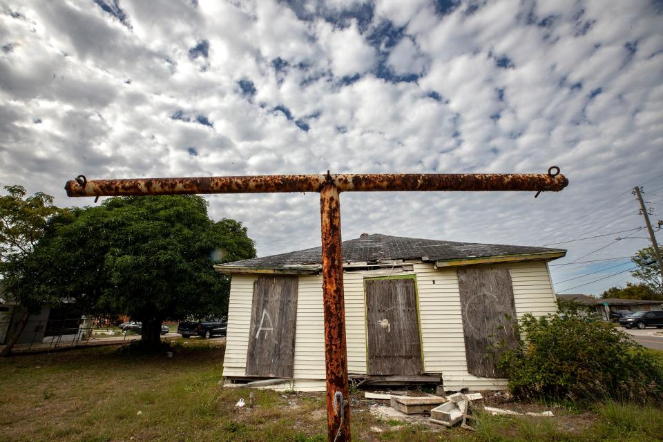
[[[524,340],[500,361],[515,396],[663,401],[663,365],[621,330],[568,309],[518,326]]]

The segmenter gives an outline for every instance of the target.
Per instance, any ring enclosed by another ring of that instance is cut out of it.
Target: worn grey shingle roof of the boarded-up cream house
[[[490,256],[528,255],[532,253],[566,252],[563,249],[525,247],[504,244],[477,244],[401,238],[398,236],[363,234],[360,238],[343,241],[344,262],[376,262],[378,260],[421,259],[423,261],[485,258]],[[291,266],[314,266],[322,262],[321,247],[228,262],[223,267],[280,268]]]

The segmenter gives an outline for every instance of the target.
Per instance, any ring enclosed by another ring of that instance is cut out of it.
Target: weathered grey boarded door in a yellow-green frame
[[[414,279],[367,279],[368,374],[423,373]]]

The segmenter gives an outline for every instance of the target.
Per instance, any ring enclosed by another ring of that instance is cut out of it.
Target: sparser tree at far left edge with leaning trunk
[[[53,204],[53,197],[37,192],[33,196],[23,186],[5,186],[0,195],[0,284],[8,300],[19,305],[21,316],[0,356],[10,354],[26,327],[30,314],[37,314],[46,302],[57,304],[60,298],[49,299],[21,280],[29,280],[28,269],[21,266],[31,254],[44,231],[54,218],[66,213]]]

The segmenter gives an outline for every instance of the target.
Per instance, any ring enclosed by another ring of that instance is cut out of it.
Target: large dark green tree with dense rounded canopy
[[[128,314],[142,343],[160,344],[164,320],[227,311],[229,278],[214,262],[253,258],[246,228],[214,222],[197,195],[109,198],[59,218],[25,262],[40,290],[90,314]]]

